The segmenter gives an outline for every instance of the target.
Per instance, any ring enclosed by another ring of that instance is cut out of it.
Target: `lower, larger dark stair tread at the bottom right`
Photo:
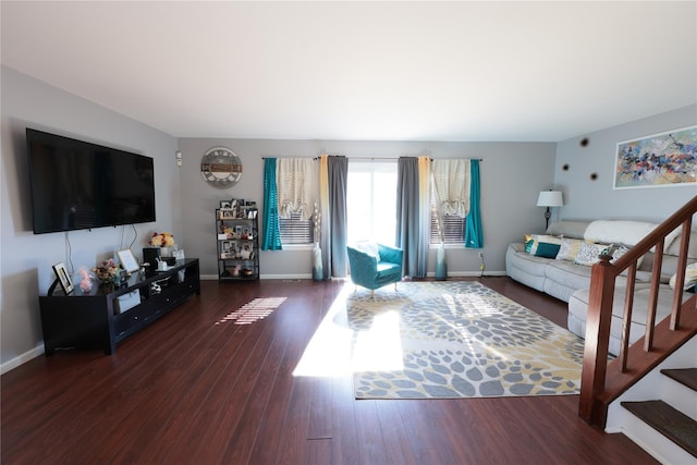
[[[697,457],[697,421],[663,401],[622,402],[622,406]]]

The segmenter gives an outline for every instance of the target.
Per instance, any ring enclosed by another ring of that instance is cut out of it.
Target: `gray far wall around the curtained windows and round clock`
[[[228,189],[204,182],[200,159],[217,146],[234,151],[243,162],[242,180]],[[487,272],[504,271],[505,244],[522,231],[541,231],[543,211],[535,207],[537,194],[548,188],[554,170],[555,144],[547,143],[439,143],[439,142],[346,142],[180,138],[184,167],[181,170],[186,255],[201,259],[201,273],[217,276],[215,208],[220,200],[244,198],[261,205],[262,157],[315,157],[340,154],[351,158],[398,158],[428,155],[432,158],[480,158],[481,210]],[[429,272],[435,271],[435,250]],[[448,249],[451,276],[478,274],[474,249]],[[261,278],[309,278],[310,250],[301,247],[260,254]]]

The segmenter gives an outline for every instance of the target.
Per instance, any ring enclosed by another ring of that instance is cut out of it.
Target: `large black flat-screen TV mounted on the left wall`
[[[26,130],[34,233],[155,221],[152,158]]]

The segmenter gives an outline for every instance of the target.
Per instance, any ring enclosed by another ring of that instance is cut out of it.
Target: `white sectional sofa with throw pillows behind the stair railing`
[[[653,223],[624,220],[555,222],[550,224],[547,234],[528,237],[527,252],[526,244],[523,242],[509,244],[505,255],[506,274],[525,285],[567,302],[567,328],[571,332],[585,338],[590,265],[594,260],[588,260],[588,254],[582,259],[572,258],[573,250],[568,253],[568,244],[573,243],[575,246],[579,246],[579,243],[586,243],[588,245],[582,245],[586,253],[588,250],[599,253],[608,246],[612,246],[608,252],[621,254],[622,250],[626,250],[640,241],[653,228],[656,228]],[[669,286],[669,280],[677,269],[680,242],[678,231],[665,240],[657,321],[670,314],[673,292]],[[553,255],[557,249],[555,243],[560,243],[559,252]],[[547,248],[540,249],[540,244],[545,244]],[[687,255],[688,262],[697,262],[697,228],[693,228]],[[652,269],[653,253],[648,253],[637,267],[631,342],[640,338],[646,328]],[[692,286],[695,284],[693,283]],[[625,292],[626,278],[624,276],[617,277],[610,334],[610,352],[615,355],[620,348]],[[684,299],[690,295],[685,292]]]

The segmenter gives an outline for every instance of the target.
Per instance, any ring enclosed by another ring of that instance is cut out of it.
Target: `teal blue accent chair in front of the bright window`
[[[372,243],[370,247],[346,246],[346,252],[351,281],[356,286],[369,289],[371,297],[376,289],[391,283],[396,291],[396,283],[402,281],[404,252],[401,248]]]

